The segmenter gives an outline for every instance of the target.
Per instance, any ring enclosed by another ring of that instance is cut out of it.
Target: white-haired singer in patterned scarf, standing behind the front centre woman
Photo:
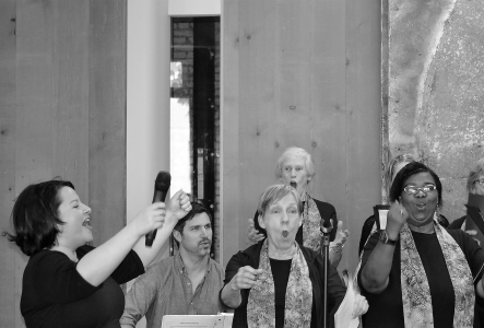
[[[320,251],[321,220],[324,220],[327,225],[331,221],[333,230],[330,234],[329,260],[333,266],[338,267],[349,232],[347,230],[342,230],[343,223],[338,222],[337,210],[332,204],[317,200],[306,191],[315,173],[316,169],[311,155],[297,147],[286,149],[279,157],[275,167],[278,179],[287,186],[294,187],[303,200],[303,224],[297,231],[296,242],[315,251]],[[253,219],[249,219],[249,241],[252,243],[258,243],[267,236],[265,230],[259,225],[257,215],[258,213],[256,212]]]

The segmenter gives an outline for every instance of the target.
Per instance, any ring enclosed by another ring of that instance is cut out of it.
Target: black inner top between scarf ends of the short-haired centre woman
[[[285,292],[293,260],[276,260],[272,258],[269,260],[271,262],[272,277],[274,278],[275,328],[284,328]]]

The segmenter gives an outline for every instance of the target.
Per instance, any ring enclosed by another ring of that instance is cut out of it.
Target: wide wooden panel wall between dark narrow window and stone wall
[[[276,159],[286,148],[298,145],[312,154],[316,164],[308,191],[334,204],[351,230],[340,268],[354,269],[363,221],[379,202],[378,4],[373,1],[363,8],[341,0],[225,0],[223,4],[223,20],[238,23],[225,23],[229,33],[224,30],[223,38],[222,156],[231,163],[223,165],[223,188],[231,189],[223,194],[224,263],[235,254],[226,249],[247,246],[247,218],[253,215],[263,189],[275,181]],[[238,47],[234,46],[237,28]],[[238,232],[227,226],[237,226]]]

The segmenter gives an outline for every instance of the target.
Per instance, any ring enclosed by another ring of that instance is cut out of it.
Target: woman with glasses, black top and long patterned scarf
[[[387,229],[363,250],[358,284],[369,303],[364,327],[473,327],[474,297],[484,296],[484,251],[434,219],[441,191],[438,176],[422,163],[397,174]]]

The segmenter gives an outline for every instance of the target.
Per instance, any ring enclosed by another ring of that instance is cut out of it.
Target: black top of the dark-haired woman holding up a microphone
[[[92,249],[82,246],[75,253],[82,258]],[[120,327],[125,295],[119,284],[144,273],[138,254],[131,250],[97,288],[86,282],[75,267],[67,255],[56,250],[44,249],[28,259],[20,305],[26,327]]]

